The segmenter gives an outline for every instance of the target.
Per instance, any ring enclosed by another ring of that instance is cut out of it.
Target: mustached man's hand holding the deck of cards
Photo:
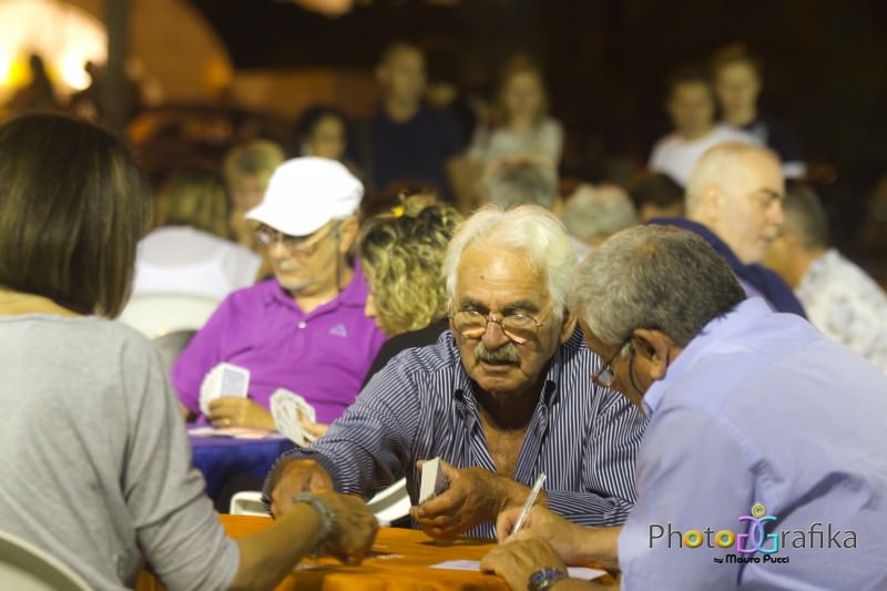
[[[442,460],[440,467],[449,481],[447,490],[410,509],[419,528],[431,538],[455,538],[492,521],[503,509],[521,506],[530,493],[529,487],[482,468],[453,468]],[[547,502],[544,495],[539,499]]]

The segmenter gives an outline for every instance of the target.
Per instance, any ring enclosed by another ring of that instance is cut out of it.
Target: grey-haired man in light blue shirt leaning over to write
[[[747,298],[728,263],[669,226],[609,238],[570,309],[595,374],[644,409],[638,501],[621,527],[533,508],[499,516],[483,561],[511,589],[887,589],[887,377],[795,314]]]

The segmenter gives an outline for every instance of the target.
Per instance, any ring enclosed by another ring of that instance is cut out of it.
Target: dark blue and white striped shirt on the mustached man
[[[513,475],[531,486],[544,472],[549,507],[584,526],[625,520],[634,502],[634,458],[646,425],[622,395],[592,384],[589,376],[600,364],[579,330],[558,346]],[[278,462],[316,460],[336,490],[364,496],[406,476],[415,503],[417,460],[440,457],[458,468],[496,471],[475,388],[447,330],[437,344],[391,359],[326,436],[310,448],[284,454]],[[495,523],[481,523],[468,534],[495,538]]]

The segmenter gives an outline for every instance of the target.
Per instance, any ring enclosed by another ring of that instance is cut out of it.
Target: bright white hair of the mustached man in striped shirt
[[[457,289],[459,262],[469,246],[496,247],[526,256],[530,265],[546,276],[552,316],[558,320],[563,318],[577,261],[567,231],[554,214],[536,205],[510,211],[486,205],[462,222],[443,258],[450,306]]]

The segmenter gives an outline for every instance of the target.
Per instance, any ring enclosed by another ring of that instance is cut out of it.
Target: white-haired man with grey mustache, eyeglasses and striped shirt
[[[419,465],[439,457],[447,489],[412,509],[434,538],[492,538],[497,513],[522,506],[542,472],[541,505],[585,526],[624,521],[645,420],[589,384],[601,361],[565,308],[575,264],[541,207],[470,217],[445,259],[450,330],[395,357],[326,436],[281,457],[272,512],[300,490],[369,496],[402,476],[417,503]]]

